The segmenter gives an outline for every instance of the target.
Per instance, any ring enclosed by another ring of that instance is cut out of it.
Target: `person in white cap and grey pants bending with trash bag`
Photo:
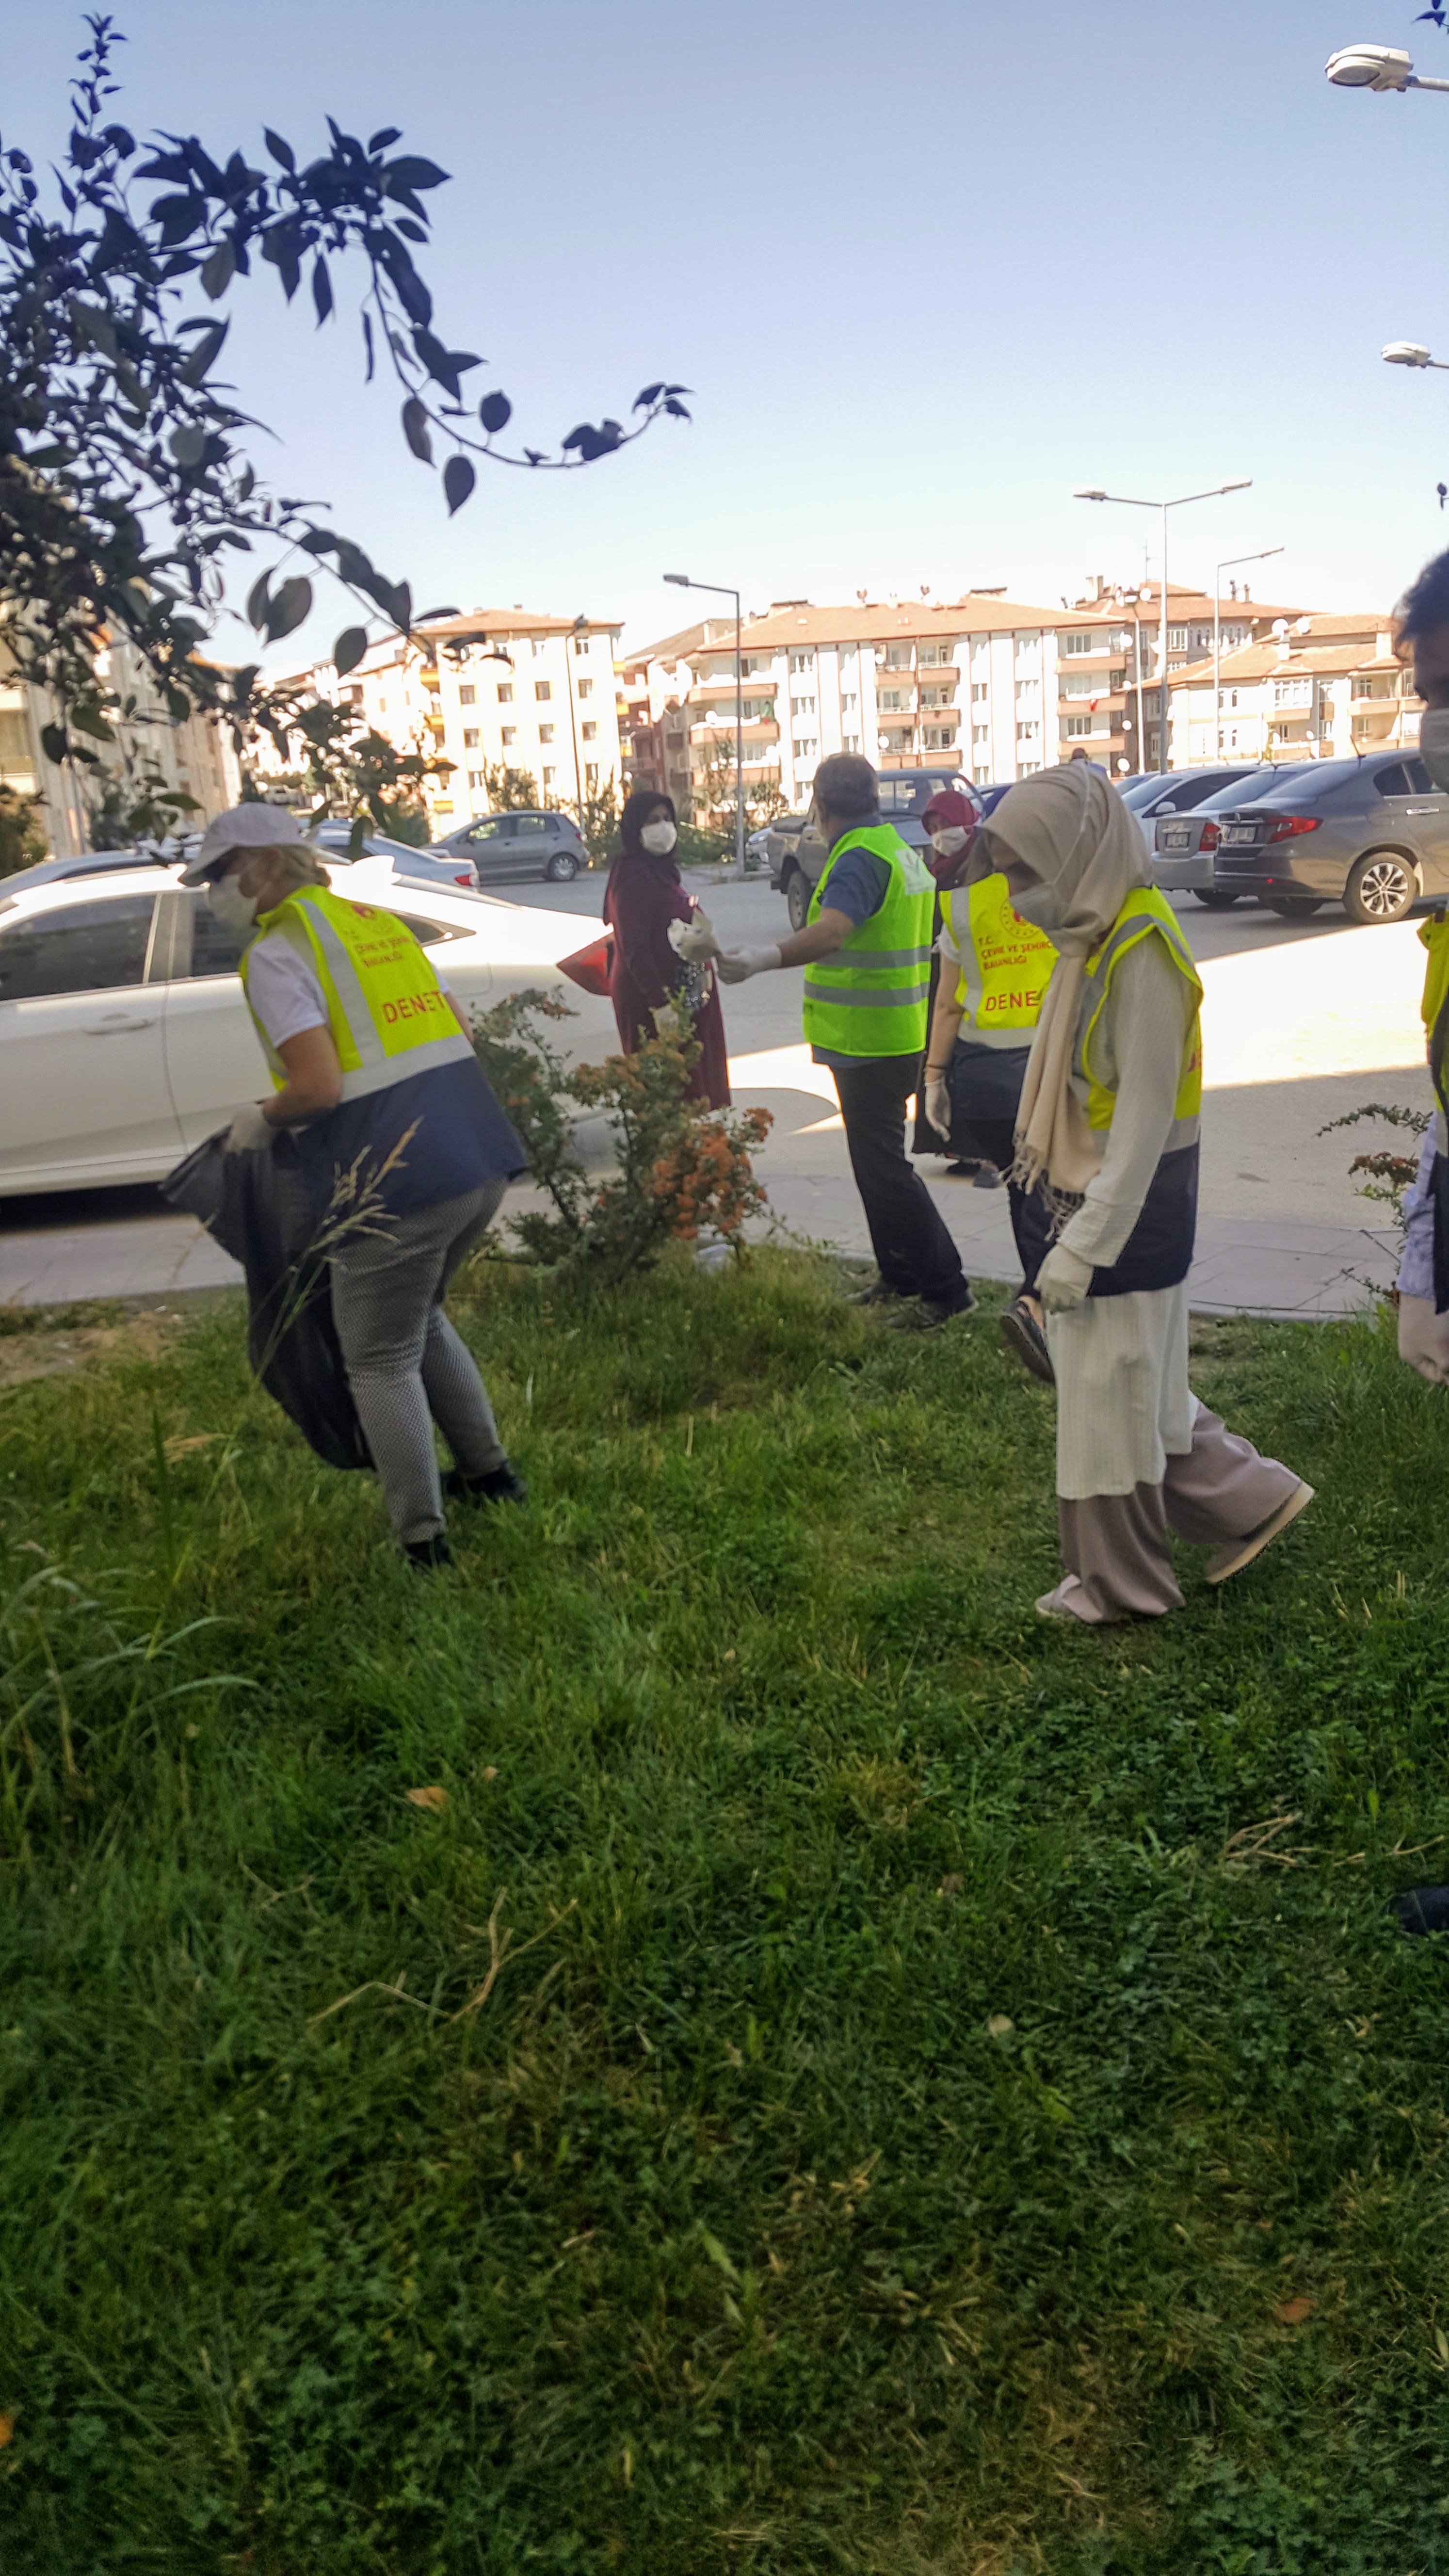
[[[521,1502],[487,1391],[443,1314],[459,1260],[526,1154],[467,1020],[405,922],[330,891],[294,814],[219,814],[183,871],[242,945],[242,989],[271,1100],[237,1110],[227,1149],[281,1131],[325,1229],[333,1321],[392,1533],[415,1566],[449,1561],[433,1422],[464,1502]]]

